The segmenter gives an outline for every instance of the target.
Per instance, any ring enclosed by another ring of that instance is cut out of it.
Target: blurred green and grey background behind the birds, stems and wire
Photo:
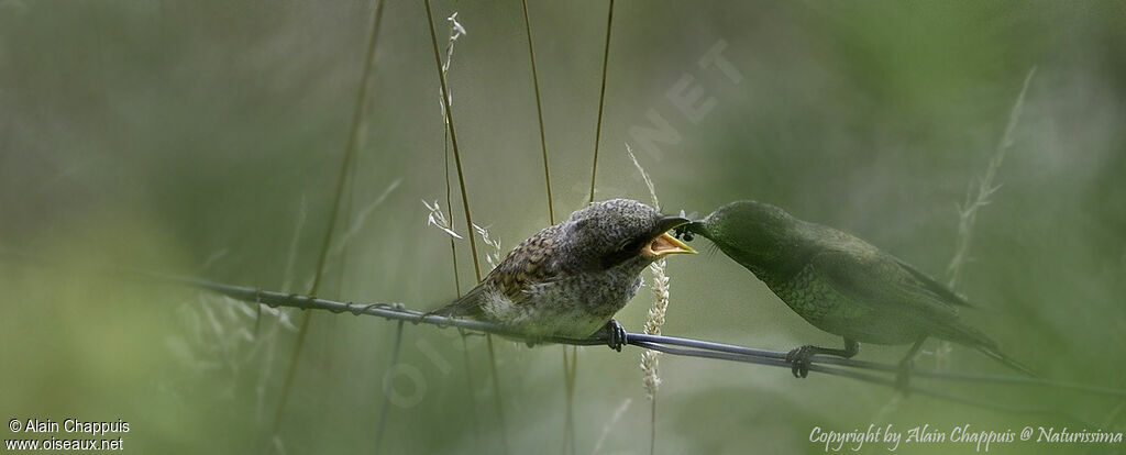
[[[587,198],[607,3],[529,3],[555,215],[564,217]],[[306,292],[373,9],[0,1],[0,248]],[[548,224],[522,12],[517,1],[438,1],[439,39],[455,11],[468,32],[449,72],[467,191],[474,220],[507,251]],[[390,2],[384,15],[350,214],[319,294],[432,309],[455,296],[448,237],[426,225],[420,203],[445,206],[438,80],[423,5]],[[618,1],[597,197],[647,200],[629,142],[667,212],[769,202],[945,277],[956,204],[985,172],[1035,66],[995,177],[1002,186],[977,217],[963,270],[959,291],[985,310],[966,318],[1047,377],[1126,389],[1124,19],[1121,1]],[[726,73],[699,63],[717,48]],[[692,106],[711,108],[686,115],[670,90],[699,90]],[[457,203],[454,216],[465,234]],[[457,244],[464,289],[472,267],[467,243]],[[776,350],[839,342],[722,255],[672,258],[669,274],[667,334]],[[643,289],[618,320],[641,330],[651,301]],[[301,313],[284,312],[283,323],[267,314],[256,332],[252,311],[207,293],[18,260],[0,261],[0,302],[6,419],[123,419],[133,453],[374,452],[390,381],[397,398],[382,450],[500,449],[480,337],[468,339],[466,369],[456,331],[406,324],[401,366],[388,375],[394,323],[314,314],[270,443]],[[918,364],[933,367],[937,347],[929,342]],[[859,358],[896,362],[904,350],[865,346]],[[563,450],[561,351],[498,344],[513,453]],[[580,350],[578,453],[649,450],[638,355]],[[1008,373],[957,346],[949,360],[955,371]],[[663,356],[661,377],[660,453],[824,453],[810,441],[817,426],[1081,429],[1054,416],[899,400],[847,378],[797,381],[784,368]],[[917,384],[1126,431],[1123,400]]]

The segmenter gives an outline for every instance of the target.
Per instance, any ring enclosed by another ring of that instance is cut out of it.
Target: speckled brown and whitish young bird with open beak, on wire
[[[430,314],[471,316],[529,336],[587,338],[606,328],[641,287],[641,273],[665,255],[695,253],[668,231],[688,223],[631,199],[592,203],[520,242],[481,284]],[[529,342],[530,345],[530,342]]]

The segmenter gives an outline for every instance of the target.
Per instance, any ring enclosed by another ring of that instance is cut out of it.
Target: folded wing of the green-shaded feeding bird
[[[830,250],[810,260],[817,275],[840,295],[878,311],[922,315],[935,322],[957,318],[957,309],[901,262],[878,250]]]

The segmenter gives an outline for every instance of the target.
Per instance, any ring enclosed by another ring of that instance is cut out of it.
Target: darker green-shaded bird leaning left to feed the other
[[[905,386],[912,359],[928,337],[975,348],[1034,375],[962,322],[958,307],[971,306],[965,298],[859,238],[754,200],[727,204],[680,231],[707,238],[803,319],[844,338],[844,349],[806,345],[789,351],[794,376],[805,377],[816,354],[849,358],[859,353],[860,342],[912,344],[897,376]]]

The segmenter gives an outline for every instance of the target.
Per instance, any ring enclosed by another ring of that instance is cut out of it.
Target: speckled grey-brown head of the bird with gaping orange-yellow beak
[[[688,222],[685,217],[662,215],[636,200],[610,199],[571,214],[566,229],[573,251],[583,256],[591,268],[627,268],[640,273],[663,256],[696,252],[669,234]]]

